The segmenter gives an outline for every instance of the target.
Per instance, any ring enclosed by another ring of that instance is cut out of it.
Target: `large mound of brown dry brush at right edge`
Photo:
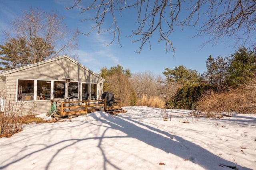
[[[225,92],[208,92],[198,102],[200,111],[256,114],[256,78]]]

